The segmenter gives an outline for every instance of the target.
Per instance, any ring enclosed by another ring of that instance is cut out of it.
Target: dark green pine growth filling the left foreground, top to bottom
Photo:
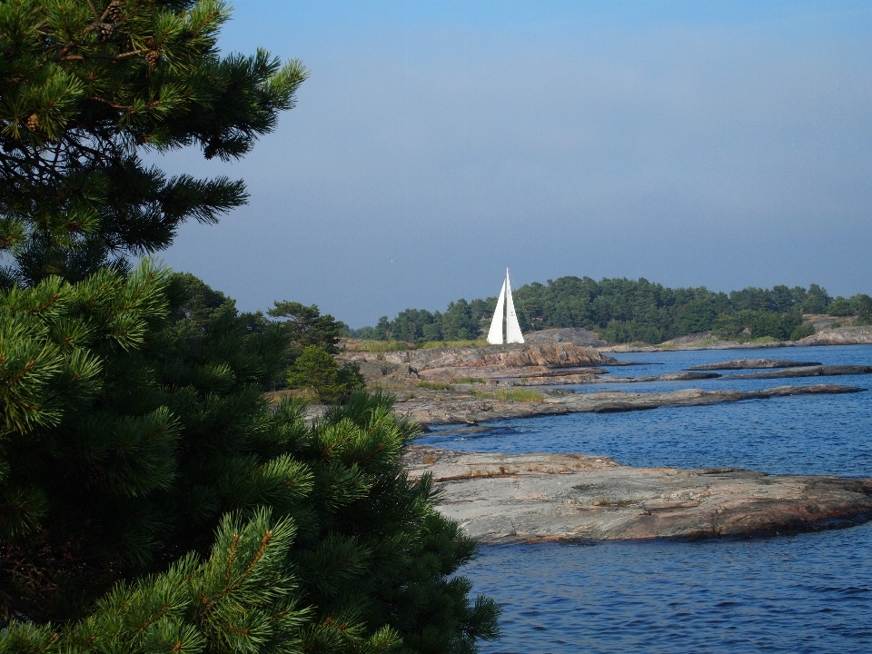
[[[139,154],[241,156],[306,76],[219,57],[226,19],[0,2],[0,652],[474,651],[498,609],[391,400],[271,406],[282,326],[127,262],[245,200]]]

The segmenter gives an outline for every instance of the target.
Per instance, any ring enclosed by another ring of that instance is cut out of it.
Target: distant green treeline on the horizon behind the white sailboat
[[[532,332],[554,327],[583,327],[609,342],[659,343],[697,332],[723,337],[771,336],[779,340],[808,335],[803,313],[872,317],[872,298],[859,293],[832,298],[811,284],[748,287],[713,292],[706,287],[669,288],[646,279],[560,277],[533,282],[514,292],[521,329]],[[407,342],[475,339],[487,331],[496,297],[451,302],[445,312],[406,309],[393,320],[382,316],[375,327],[352,330],[358,338]]]

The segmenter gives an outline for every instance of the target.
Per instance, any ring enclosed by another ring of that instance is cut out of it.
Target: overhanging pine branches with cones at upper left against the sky
[[[167,177],[138,151],[242,156],[306,78],[264,51],[218,54],[220,0],[0,3],[2,282],[84,279],[245,202],[226,178]]]

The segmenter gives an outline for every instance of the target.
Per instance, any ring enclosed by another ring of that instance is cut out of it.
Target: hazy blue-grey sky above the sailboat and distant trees
[[[311,71],[160,256],[352,327],[564,275],[872,292],[872,3],[244,0]]]

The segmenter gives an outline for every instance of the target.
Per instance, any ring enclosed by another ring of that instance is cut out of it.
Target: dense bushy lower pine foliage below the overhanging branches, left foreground
[[[389,399],[314,425],[271,411],[259,377],[282,340],[148,263],[0,307],[0,597],[35,620],[0,652],[465,652],[496,635],[492,600],[451,578],[474,543],[407,479],[417,431]]]

